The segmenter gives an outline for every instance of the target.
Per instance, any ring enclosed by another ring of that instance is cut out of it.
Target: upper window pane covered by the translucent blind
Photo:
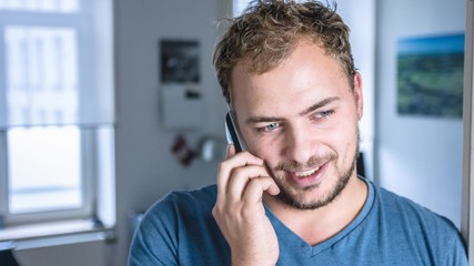
[[[10,124],[57,125],[77,122],[75,30],[9,25],[4,38]]]

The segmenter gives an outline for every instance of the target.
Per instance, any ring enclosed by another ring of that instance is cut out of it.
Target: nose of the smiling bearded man
[[[286,131],[286,157],[296,163],[306,163],[315,153],[312,132],[302,126]]]

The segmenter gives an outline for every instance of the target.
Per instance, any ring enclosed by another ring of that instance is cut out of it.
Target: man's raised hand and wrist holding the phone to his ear
[[[249,152],[235,154],[228,146],[228,158],[218,173],[218,201],[212,215],[232,253],[232,265],[275,265],[279,243],[265,215],[263,193],[280,193],[263,160]]]

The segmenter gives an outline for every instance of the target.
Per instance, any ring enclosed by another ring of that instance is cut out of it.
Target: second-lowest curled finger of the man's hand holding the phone
[[[234,168],[231,175],[226,188],[226,198],[230,201],[241,201],[252,178],[269,177],[266,168],[261,165],[249,165]]]

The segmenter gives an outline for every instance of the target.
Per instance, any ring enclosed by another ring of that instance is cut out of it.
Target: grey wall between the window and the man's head
[[[125,265],[130,243],[128,213],[147,209],[172,190],[213,183],[218,163],[183,167],[170,152],[179,132],[163,129],[160,116],[159,41],[195,39],[201,44],[200,85],[204,121],[181,132],[191,145],[205,134],[223,136],[224,102],[212,69],[219,0],[117,0],[117,243],[112,265]]]

